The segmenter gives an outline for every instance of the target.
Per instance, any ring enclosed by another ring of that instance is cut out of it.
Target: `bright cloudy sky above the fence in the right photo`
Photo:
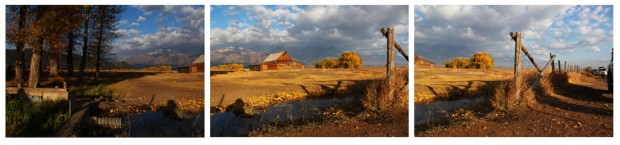
[[[415,53],[439,66],[487,52],[496,66],[512,67],[510,32],[522,33],[523,45],[541,67],[550,53],[556,62],[582,68],[606,67],[611,60],[612,6],[415,6],[414,23]],[[531,67],[522,56],[521,64]]]

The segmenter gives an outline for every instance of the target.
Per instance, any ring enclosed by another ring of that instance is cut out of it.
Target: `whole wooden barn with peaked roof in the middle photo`
[[[253,71],[304,69],[305,64],[295,61],[286,51],[272,53],[260,64],[250,66]]]

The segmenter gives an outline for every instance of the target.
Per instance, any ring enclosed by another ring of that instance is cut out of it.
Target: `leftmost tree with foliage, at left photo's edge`
[[[26,57],[24,56],[24,50],[28,39],[26,36],[28,35],[28,31],[26,31],[28,29],[26,27],[26,18],[28,17],[29,6],[7,6],[7,8],[10,10],[7,13],[7,22],[11,22],[6,26],[7,42],[16,46],[15,78],[13,81],[22,84],[25,81],[24,68],[26,68]]]

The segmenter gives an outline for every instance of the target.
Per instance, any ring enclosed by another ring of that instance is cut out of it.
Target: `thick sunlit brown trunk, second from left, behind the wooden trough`
[[[35,87],[39,83],[41,49],[43,48],[43,36],[39,36],[38,44],[32,48],[32,57],[30,58],[30,77],[28,77],[28,87]]]

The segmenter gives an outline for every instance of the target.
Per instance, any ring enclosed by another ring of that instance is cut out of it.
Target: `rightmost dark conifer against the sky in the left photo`
[[[120,13],[123,11],[124,9],[118,5],[99,5],[94,7],[92,19],[93,22],[95,22],[93,25],[93,30],[95,30],[95,32],[93,35],[95,35],[95,41],[97,41],[97,51],[95,52],[95,80],[99,79],[102,57],[109,52],[104,49],[111,48],[110,45],[112,41],[120,37],[115,31]]]

